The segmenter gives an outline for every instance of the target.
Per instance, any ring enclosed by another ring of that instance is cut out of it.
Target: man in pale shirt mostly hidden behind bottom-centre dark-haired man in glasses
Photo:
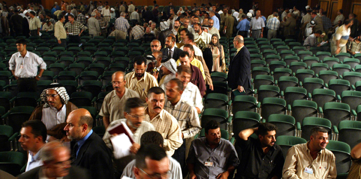
[[[161,134],[157,131],[147,131],[143,133],[143,135],[140,137],[140,148],[143,148],[142,146],[149,146],[149,144],[156,144],[160,147],[163,147],[163,137]],[[141,152],[139,151],[137,153]],[[180,169],[179,163],[172,158],[171,156],[168,156],[169,159],[169,170],[167,172],[168,178],[172,179],[182,179],[182,169]],[[127,176],[130,178],[135,178],[135,173],[133,172],[133,168],[136,166],[136,159],[132,160],[123,170],[123,176]]]

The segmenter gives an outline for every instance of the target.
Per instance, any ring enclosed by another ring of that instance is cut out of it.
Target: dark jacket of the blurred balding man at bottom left
[[[38,179],[39,171],[43,166],[38,166],[18,176],[18,179]],[[77,166],[71,166],[69,168],[69,174],[64,176],[63,179],[88,179],[90,178],[86,170]]]

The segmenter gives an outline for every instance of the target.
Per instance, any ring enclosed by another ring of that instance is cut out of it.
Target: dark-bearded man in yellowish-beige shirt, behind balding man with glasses
[[[148,90],[153,86],[158,86],[156,78],[145,71],[146,58],[144,56],[135,56],[134,71],[126,74],[125,87],[138,92],[140,98],[145,102]]]

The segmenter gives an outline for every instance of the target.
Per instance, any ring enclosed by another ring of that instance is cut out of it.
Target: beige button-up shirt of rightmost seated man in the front
[[[323,149],[317,153],[313,160],[307,143],[292,146],[286,155],[283,165],[283,179],[326,179],[336,178],[335,156],[328,149]],[[313,174],[305,172],[305,168],[313,169]]]

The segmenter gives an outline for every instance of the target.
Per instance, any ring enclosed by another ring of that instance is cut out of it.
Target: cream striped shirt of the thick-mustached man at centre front
[[[183,144],[182,130],[178,125],[178,121],[166,110],[162,109],[160,113],[152,120],[148,115],[148,107],[145,108],[145,121],[153,124],[155,130],[164,138],[163,148],[168,156],[173,155],[174,150]]]

